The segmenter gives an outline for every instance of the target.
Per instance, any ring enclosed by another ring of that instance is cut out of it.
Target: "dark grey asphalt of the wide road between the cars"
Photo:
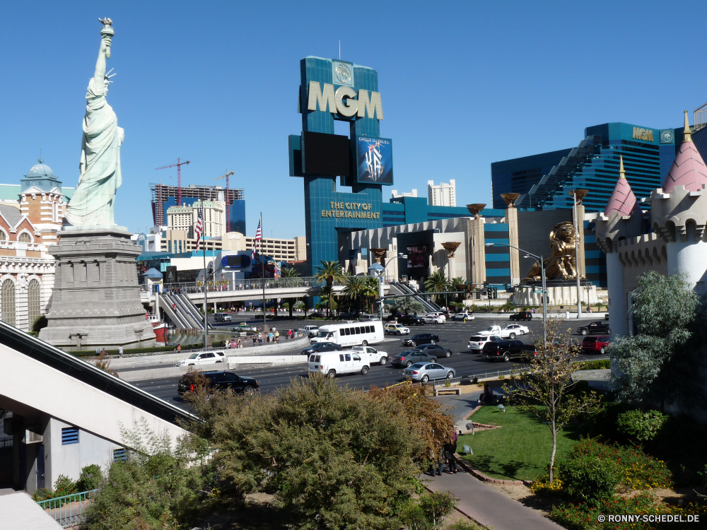
[[[242,322],[242,321],[240,321]],[[250,319],[249,319],[250,322]],[[256,322],[256,321],[253,321]],[[261,321],[262,322],[262,321]],[[588,321],[580,321],[581,324],[586,324]],[[445,324],[427,324],[426,326],[413,326],[410,334],[421,332],[430,332],[440,337],[440,346],[452,350],[450,358],[440,358],[439,362],[445,366],[455,369],[457,377],[459,376],[482,376],[486,372],[496,372],[497,370],[509,370],[513,367],[523,367],[521,363],[503,363],[491,362],[485,360],[479,353],[469,353],[467,342],[469,336],[486,329],[494,324],[506,326],[508,324],[508,315],[499,315],[496,317],[477,318],[471,322],[447,322]],[[276,326],[277,329],[287,330],[296,329],[305,324],[322,324],[320,321],[276,321],[269,325]],[[525,343],[530,343],[533,338],[542,338],[542,320],[534,319],[531,322],[520,322],[529,328],[530,334],[519,336],[518,339]],[[567,322],[566,327],[575,329],[578,326],[577,321]],[[563,326],[565,327],[565,326]],[[582,336],[573,334],[581,343]],[[410,348],[404,348],[401,344],[401,339],[397,336],[386,336],[385,341],[380,344],[372,345],[378,351],[385,351],[388,356],[395,355]],[[290,352],[281,352],[278,355],[298,354],[300,349]],[[580,355],[580,359],[591,359],[598,355]],[[284,367],[262,368],[259,370],[247,370],[238,372],[239,375],[255,377],[259,383],[261,391],[270,392],[274,389],[286,385],[293,377],[302,377],[307,375],[306,365],[293,365]],[[337,378],[339,384],[349,384],[351,387],[368,388],[374,384],[384,386],[385,384],[395,384],[404,381],[402,368],[392,367],[391,365],[379,366],[373,365],[367,375],[346,375]],[[140,387],[150,394],[160,397],[165,401],[189,408],[182,399],[177,395],[178,377],[170,377],[165,379],[151,379],[147,381],[135,382],[136,387]]]

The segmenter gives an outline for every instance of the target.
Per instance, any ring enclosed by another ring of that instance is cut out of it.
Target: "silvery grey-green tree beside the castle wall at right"
[[[638,334],[615,338],[608,351],[618,398],[654,401],[661,409],[683,391],[703,399],[703,385],[690,382],[704,363],[707,319],[686,278],[645,273],[633,290],[632,312]]]

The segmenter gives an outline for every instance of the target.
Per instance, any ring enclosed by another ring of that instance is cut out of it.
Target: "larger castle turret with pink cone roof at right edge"
[[[685,135],[663,187],[650,194],[650,223],[666,242],[669,274],[684,273],[694,289],[707,291],[707,166],[692,141],[687,111]]]

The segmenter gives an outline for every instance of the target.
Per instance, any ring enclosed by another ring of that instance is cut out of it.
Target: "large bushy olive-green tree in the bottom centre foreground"
[[[273,494],[298,528],[397,530],[419,485],[419,418],[393,393],[317,375],[250,399],[204,397],[195,410],[223,478],[242,493]]]

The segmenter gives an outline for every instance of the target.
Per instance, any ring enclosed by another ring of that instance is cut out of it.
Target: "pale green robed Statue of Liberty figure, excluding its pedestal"
[[[98,61],[86,90],[78,187],[66,208],[66,220],[74,226],[114,225],[115,192],[122,183],[120,145],[124,132],[106,101],[112,76],[105,72],[105,59],[110,59],[110,42],[115,31],[110,18],[100,22],[103,28]]]

